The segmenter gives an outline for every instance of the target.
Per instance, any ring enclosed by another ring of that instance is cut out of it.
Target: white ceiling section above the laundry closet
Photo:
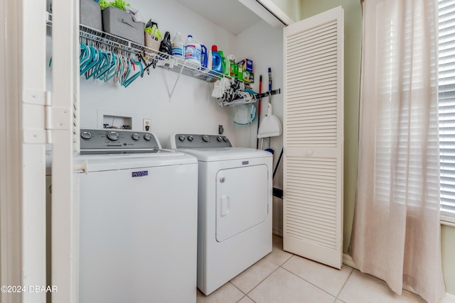
[[[176,0],[226,31],[237,35],[261,20],[238,0]],[[197,7],[198,9],[194,9]]]

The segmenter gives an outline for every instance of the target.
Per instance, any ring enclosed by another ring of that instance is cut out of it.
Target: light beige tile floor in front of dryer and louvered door
[[[272,253],[212,294],[198,290],[198,303],[387,303],[425,302],[403,290],[392,292],[385,282],[343,265],[341,270],[293,255],[273,236]],[[444,302],[444,301],[441,301]]]

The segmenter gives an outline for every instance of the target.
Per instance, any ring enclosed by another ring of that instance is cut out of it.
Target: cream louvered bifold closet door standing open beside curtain
[[[284,250],[341,268],[343,9],[284,28]]]

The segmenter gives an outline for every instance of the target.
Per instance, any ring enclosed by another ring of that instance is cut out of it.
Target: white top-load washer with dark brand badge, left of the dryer
[[[79,300],[196,302],[196,158],[148,132],[81,130]]]

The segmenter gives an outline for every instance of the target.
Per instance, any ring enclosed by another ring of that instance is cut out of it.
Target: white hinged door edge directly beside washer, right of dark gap
[[[79,1],[53,1],[52,27],[52,302],[77,303],[78,184],[73,155],[79,150]]]

